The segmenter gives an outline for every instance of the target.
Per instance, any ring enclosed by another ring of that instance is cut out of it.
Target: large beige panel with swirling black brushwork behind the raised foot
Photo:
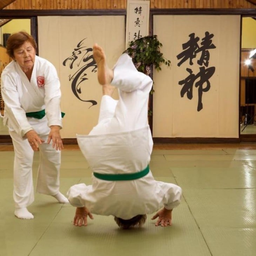
[[[124,16],[38,17],[39,56],[53,63],[61,82],[63,138],[88,134],[97,124],[102,88],[93,44],[105,49],[112,67],[124,50],[124,38]]]

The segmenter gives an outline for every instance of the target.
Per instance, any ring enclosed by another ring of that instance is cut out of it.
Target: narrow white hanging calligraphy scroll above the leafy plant
[[[126,48],[129,42],[149,33],[150,1],[127,0]]]

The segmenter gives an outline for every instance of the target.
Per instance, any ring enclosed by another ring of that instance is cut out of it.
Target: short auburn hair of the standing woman
[[[33,36],[29,35],[27,32],[20,31],[10,35],[6,42],[7,54],[11,58],[14,58],[14,50],[19,48],[26,41],[30,42],[34,47],[34,49],[36,50],[36,42]]]

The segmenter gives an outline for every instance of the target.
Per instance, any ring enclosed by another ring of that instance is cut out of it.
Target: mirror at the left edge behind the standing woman
[[[6,53],[6,41],[9,35],[18,31],[26,31],[27,33],[31,34],[30,19],[12,19],[0,27],[0,77],[2,70],[4,70],[5,66],[12,61],[12,59],[10,59]],[[0,113],[1,115],[4,115],[4,101],[2,100],[1,92]],[[4,126],[3,119],[0,117],[0,136],[8,134],[8,128]]]

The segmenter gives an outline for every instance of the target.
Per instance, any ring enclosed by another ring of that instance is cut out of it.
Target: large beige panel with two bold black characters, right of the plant
[[[239,15],[154,15],[153,137],[238,138]]]

